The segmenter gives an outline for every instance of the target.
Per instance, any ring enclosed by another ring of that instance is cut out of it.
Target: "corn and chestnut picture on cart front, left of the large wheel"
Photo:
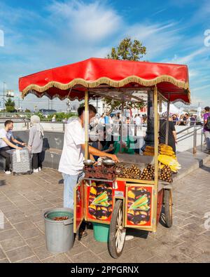
[[[90,188],[89,213],[95,219],[108,219],[112,213],[111,187],[99,185]]]

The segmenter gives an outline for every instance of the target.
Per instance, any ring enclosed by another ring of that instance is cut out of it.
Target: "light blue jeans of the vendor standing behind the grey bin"
[[[68,175],[62,173],[64,178],[64,208],[73,209],[73,189],[78,184],[78,179],[83,175],[80,173],[78,175]]]

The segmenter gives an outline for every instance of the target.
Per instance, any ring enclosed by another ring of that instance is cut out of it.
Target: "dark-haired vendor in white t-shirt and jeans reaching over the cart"
[[[76,186],[78,178],[83,175],[84,113],[85,107],[79,107],[78,118],[69,120],[64,133],[64,147],[58,169],[64,178],[64,208],[73,209],[73,188]],[[96,113],[96,109],[89,105],[89,121]],[[92,156],[106,156],[118,162],[116,155],[104,153],[91,146],[89,146],[89,153]]]

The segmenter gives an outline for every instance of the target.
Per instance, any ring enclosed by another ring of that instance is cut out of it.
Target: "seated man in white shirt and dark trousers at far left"
[[[15,140],[13,137],[13,121],[5,121],[4,126],[5,127],[0,130],[0,155],[3,156],[3,158],[6,158],[4,172],[6,174],[10,174],[10,154],[8,154],[6,151],[10,150],[11,148],[22,149],[21,147],[15,145],[15,143],[22,146],[25,146],[26,144],[24,142]]]

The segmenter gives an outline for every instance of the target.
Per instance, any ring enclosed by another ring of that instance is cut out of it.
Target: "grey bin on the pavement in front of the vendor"
[[[73,210],[69,208],[55,208],[44,213],[45,242],[48,251],[54,253],[68,252],[73,247]],[[69,217],[56,221],[54,217]]]

